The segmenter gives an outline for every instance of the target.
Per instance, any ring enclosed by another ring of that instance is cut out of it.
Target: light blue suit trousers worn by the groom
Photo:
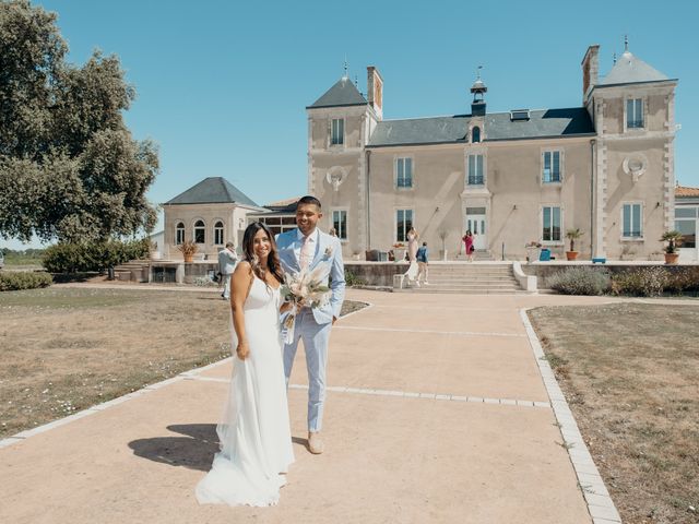
[[[319,324],[309,308],[303,308],[296,315],[294,341],[284,346],[284,374],[286,385],[292,374],[298,341],[304,341],[306,369],[308,370],[308,430],[320,431],[323,424],[325,402],[325,368],[328,365],[328,342],[332,322]]]

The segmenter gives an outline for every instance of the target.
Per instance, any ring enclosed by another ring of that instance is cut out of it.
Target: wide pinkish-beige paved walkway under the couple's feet
[[[280,505],[194,499],[216,451],[227,360],[0,449],[0,522],[592,523],[520,309],[608,299],[348,298],[372,306],[333,330],[318,456],[305,448],[297,356],[296,463]]]

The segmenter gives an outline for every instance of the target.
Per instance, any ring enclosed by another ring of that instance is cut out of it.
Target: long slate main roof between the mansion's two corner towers
[[[367,146],[463,143],[470,121],[470,115],[383,120]],[[520,121],[511,121],[509,111],[486,114],[484,128],[484,142],[595,134],[584,107],[532,110]]]

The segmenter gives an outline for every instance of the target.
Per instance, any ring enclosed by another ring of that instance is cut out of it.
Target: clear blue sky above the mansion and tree
[[[686,1],[39,0],[59,14],[70,60],[120,57],[138,98],[126,118],[159,144],[149,198],[222,176],[260,204],[306,191],[307,120],[343,74],[379,68],[387,119],[470,111],[483,64],[488,110],[581,105],[580,61],[630,50],[679,79],[675,172],[699,187],[699,8]],[[12,242],[11,242],[12,243]],[[14,243],[15,246],[16,242]]]

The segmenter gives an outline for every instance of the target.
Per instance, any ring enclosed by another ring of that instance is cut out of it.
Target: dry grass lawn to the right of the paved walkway
[[[623,521],[699,522],[699,305],[530,318]]]

